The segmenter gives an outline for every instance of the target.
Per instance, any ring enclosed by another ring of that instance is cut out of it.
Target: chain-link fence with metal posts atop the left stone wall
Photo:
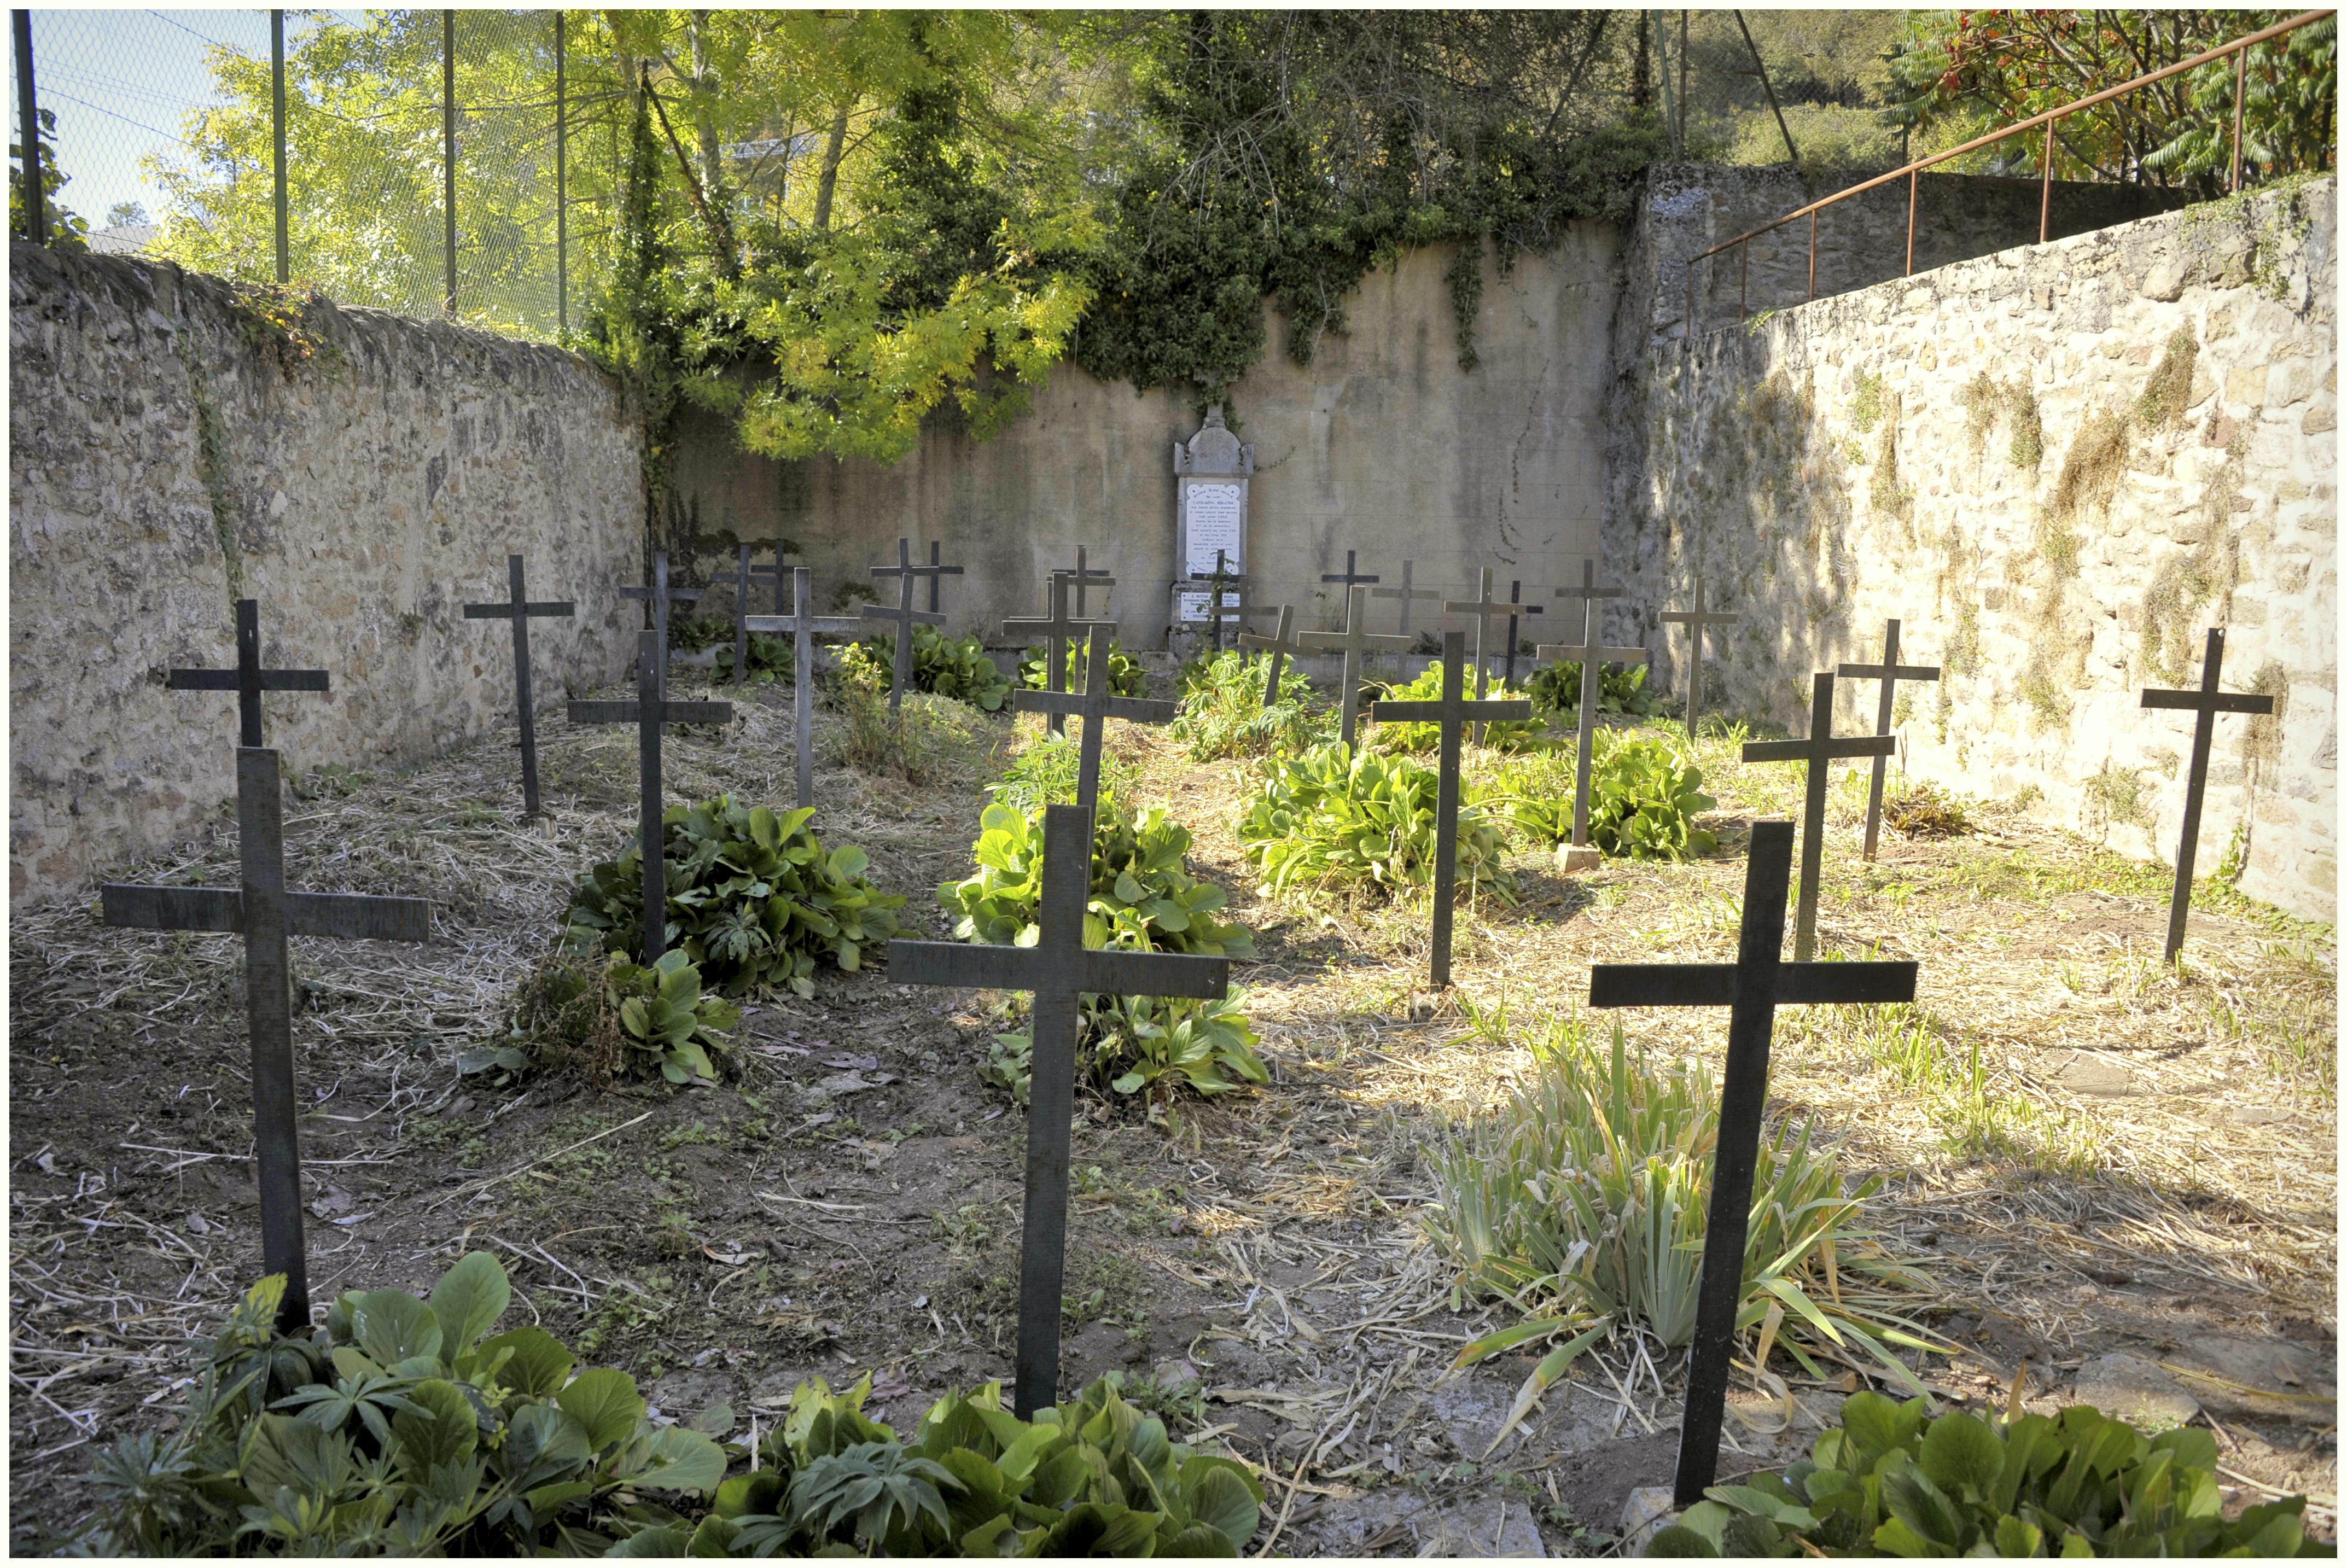
[[[594,35],[591,12],[31,12],[45,232],[556,338],[624,150]]]

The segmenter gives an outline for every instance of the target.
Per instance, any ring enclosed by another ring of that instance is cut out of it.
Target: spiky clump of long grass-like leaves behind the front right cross
[[[1436,1155],[1427,1216],[1465,1289],[1526,1312],[1467,1345],[1460,1364],[1570,1336],[1526,1378],[1502,1430],[1619,1329],[1666,1347],[1692,1338],[1718,1138],[1718,1099],[1699,1061],[1657,1068],[1624,1047],[1619,1026],[1612,1049],[1598,1052],[1577,1016],[1551,1019],[1533,1054],[1537,1077]],[[1845,1195],[1807,1127],[1784,1124],[1763,1141],[1737,1305],[1737,1331],[1760,1331],[1760,1364],[1774,1340],[1810,1376],[1835,1359],[1920,1392],[1892,1347],[1943,1347],[1896,1310],[1899,1289],[1927,1279],[1859,1228],[1880,1185],[1868,1176]]]

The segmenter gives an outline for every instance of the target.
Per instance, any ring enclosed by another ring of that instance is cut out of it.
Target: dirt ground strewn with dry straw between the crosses
[[[669,798],[789,803],[786,697],[674,735]],[[918,784],[817,772],[817,831],[871,852],[911,934],[943,934],[936,883],[967,876],[979,784],[1023,744],[958,714]],[[819,737],[838,739],[828,716]],[[1678,1357],[1624,1340],[1584,1359],[1483,1458],[1533,1357],[1441,1376],[1507,1319],[1455,1298],[1425,1242],[1425,1153],[1533,1070],[1490,1023],[1502,1005],[1568,1009],[1594,960],[1732,953],[1744,829],[1795,803],[1800,770],[1704,742],[1704,861],[1565,878],[1519,854],[1523,899],[1462,915],[1455,986],[1413,1021],[1422,904],[1258,899],[1232,838],[1249,765],[1122,725],[1112,744],[1258,930],[1237,972],[1274,1082],[1169,1124],[1080,1101],[1063,1387],[1122,1371],[1176,1437],[1258,1465],[1256,1549],[1608,1549],[1629,1488],[1669,1476]],[[737,1434],[810,1373],[871,1371],[897,1422],[1007,1380],[1023,1113],[974,1070],[1000,998],[824,969],[814,1000],[749,1009],[721,1087],[458,1075],[460,1049],[505,1035],[573,878],[634,826],[631,732],[552,716],[540,746],[540,824],[519,819],[509,739],[310,775],[289,800],[289,885],[434,901],[425,948],[293,944],[317,1300],[491,1249],[516,1312],[669,1415],[728,1404]],[[2331,930],[2220,897],[2178,976],[2157,962],[2157,869],[1995,810],[1960,838],[1885,833],[1864,866],[1861,805],[1838,782],[1821,946],[1920,958],[1936,1045],[1786,1012],[1772,1115],[1814,1117],[1849,1176],[1887,1178],[1868,1223],[1929,1272],[1915,1310],[1962,1345],[1920,1376],[1955,1401],[2018,1376],[2040,1408],[2079,1373],[2148,1378],[2204,1411],[2237,1500],[2314,1493],[2328,1535]],[[232,883],[232,824],[117,876]],[[169,1418],[188,1336],[258,1270],[258,1211],[237,941],[103,930],[89,899],[19,915],[9,958],[12,1542],[38,1552],[89,1507],[89,1446]],[[1716,1061],[1725,1038],[1692,1009],[1624,1023],[1671,1056]],[[1723,1472],[1807,1446],[1840,1387],[1795,1378],[1791,1411],[1737,1394]]]

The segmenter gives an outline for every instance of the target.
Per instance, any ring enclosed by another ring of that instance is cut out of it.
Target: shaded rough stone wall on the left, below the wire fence
[[[230,601],[263,662],[331,692],[263,699],[289,770],[376,768],[512,723],[507,552],[537,702],[624,671],[641,580],[636,425],[587,361],[373,310],[324,312],[284,369],[228,284],[120,256],[9,251],[9,904],[188,836],[235,793]],[[204,430],[216,460],[204,458]],[[519,798],[519,763],[516,763]]]

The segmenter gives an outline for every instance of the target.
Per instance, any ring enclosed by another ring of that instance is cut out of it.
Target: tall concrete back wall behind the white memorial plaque
[[[1486,268],[1476,322],[1481,366],[1460,371],[1443,270],[1450,246],[1406,254],[1345,300],[1350,331],[1310,366],[1272,347],[1239,378],[1230,418],[1256,448],[1249,549],[1256,592],[1300,606],[1303,627],[1338,624],[1321,573],[1359,570],[1474,596],[1476,568],[1500,594],[1521,577],[1533,601],[1596,547],[1603,502],[1603,364],[1615,293],[1615,230],[1575,225],[1551,256],[1509,277]],[[948,580],[951,629],[1002,643],[1000,622],[1042,613],[1042,582],[1075,566],[1117,573],[1112,613],[1129,646],[1166,641],[1174,580],[1174,441],[1199,427],[1174,392],[1134,394],[1061,366],[1035,413],[993,441],[932,420],[920,451],[875,462],[767,462],[735,448],[723,420],[688,427],[676,465],[676,533],[709,542],[699,575],[730,570],[730,538],[793,540],[817,596],[871,582],[897,538],[943,542],[969,568]],[[728,540],[725,547],[718,540]],[[706,606],[730,613],[730,592]],[[1096,608],[1096,603],[1094,603]],[[1392,629],[1396,606],[1373,606]],[[1418,606],[1413,624],[1429,622]],[[1267,627],[1265,627],[1267,629]],[[1558,622],[1530,622],[1551,634]]]

